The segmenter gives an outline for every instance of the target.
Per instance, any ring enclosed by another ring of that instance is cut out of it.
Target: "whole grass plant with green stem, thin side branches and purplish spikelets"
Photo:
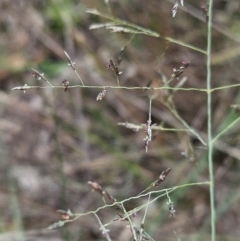
[[[175,5],[173,6],[172,9],[172,14],[175,16],[178,14],[178,11],[181,11],[180,9],[184,9],[184,2],[183,0],[181,1],[175,1]],[[124,126],[125,128],[134,130],[134,131],[139,131],[139,130],[145,130],[145,138],[143,140],[143,146],[145,147],[146,153],[149,151],[151,148],[152,142],[154,142],[153,134],[155,132],[163,133],[163,132],[176,132],[176,133],[185,133],[188,138],[193,138],[196,140],[201,148],[207,150],[207,160],[202,160],[202,162],[208,162],[208,173],[209,173],[209,178],[208,181],[192,181],[194,177],[190,177],[189,179],[191,180],[190,183],[183,183],[181,185],[175,185],[173,187],[169,188],[162,188],[162,182],[165,181],[166,178],[168,178],[168,174],[170,173],[170,170],[174,168],[168,168],[166,170],[162,170],[160,176],[158,177],[157,180],[153,181],[150,185],[146,185],[146,189],[141,191],[138,195],[131,196],[131,197],[125,197],[122,201],[118,201],[115,196],[112,196],[110,192],[107,191],[107,188],[103,188],[99,183],[89,181],[88,185],[90,188],[95,191],[97,194],[100,195],[102,201],[103,201],[103,206],[100,206],[96,208],[95,210],[91,211],[86,211],[86,212],[80,212],[80,213],[75,213],[71,211],[70,209],[66,210],[59,210],[59,213],[61,215],[61,220],[54,222],[52,225],[49,226],[49,229],[55,229],[55,228],[61,228],[67,223],[72,223],[75,222],[76,220],[85,217],[85,216],[94,216],[95,220],[97,220],[97,223],[99,225],[99,230],[102,232],[103,237],[111,241],[113,240],[111,238],[111,225],[114,224],[117,221],[124,221],[128,224],[129,230],[132,235],[132,240],[135,241],[142,241],[142,240],[157,240],[152,237],[152,234],[148,232],[147,229],[147,218],[148,218],[148,213],[150,212],[151,205],[154,203],[158,202],[159,200],[162,201],[162,203],[165,203],[165,206],[169,209],[169,214],[171,218],[175,218],[175,213],[177,211],[175,210],[175,204],[176,201],[172,199],[173,193],[176,192],[183,192],[182,189],[190,189],[190,188],[196,188],[198,186],[208,186],[208,193],[209,193],[209,199],[210,199],[210,211],[211,211],[211,241],[215,241],[216,238],[216,212],[217,212],[217,207],[215,206],[215,182],[214,182],[214,149],[220,145],[220,137],[222,137],[224,134],[226,134],[231,128],[233,128],[238,122],[239,118],[235,119],[231,124],[229,124],[226,128],[223,130],[219,131],[219,133],[216,133],[215,136],[213,135],[213,103],[212,103],[212,95],[215,92],[218,91],[223,91],[231,88],[236,88],[239,87],[240,84],[231,84],[231,85],[225,85],[225,86],[217,86],[217,87],[212,87],[211,81],[212,81],[212,29],[213,29],[213,0],[208,1],[208,9],[206,9],[206,18],[207,18],[207,49],[201,49],[196,46],[193,46],[191,44],[185,43],[181,40],[174,39],[172,37],[168,36],[162,36],[160,33],[156,31],[152,31],[146,27],[142,27],[138,24],[122,20],[118,17],[114,16],[114,11],[111,8],[110,1],[105,1],[106,4],[106,9],[108,10],[108,13],[96,10],[96,9],[87,9],[86,12],[95,18],[101,18],[106,22],[101,22],[101,23],[93,23],[90,25],[89,29],[90,30],[102,30],[105,29],[106,31],[111,31],[114,34],[119,34],[119,33],[124,33],[130,35],[130,40],[127,42],[127,45],[122,48],[121,55],[124,53],[125,49],[128,47],[128,45],[131,44],[131,41],[133,41],[135,38],[138,38],[140,35],[146,35],[147,37],[152,37],[152,38],[161,38],[168,43],[172,45],[179,45],[182,48],[187,48],[190,49],[191,51],[196,51],[199,54],[203,54],[206,57],[206,87],[205,88],[197,88],[197,87],[184,87],[185,81],[181,78],[182,75],[185,75],[185,71],[187,71],[187,67],[189,62],[186,60],[183,60],[183,62],[180,65],[180,67],[172,67],[172,73],[170,77],[162,81],[161,85],[159,87],[151,87],[151,86],[125,86],[124,83],[121,83],[121,71],[120,71],[120,62],[121,59],[118,62],[114,62],[113,60],[109,60],[109,64],[107,67],[112,70],[114,74],[114,78],[116,80],[116,85],[88,85],[87,80],[84,78],[80,77],[80,73],[78,72],[77,68],[75,67],[75,60],[72,60],[70,57],[70,54],[67,53],[67,51],[64,51],[64,54],[67,58],[68,65],[70,68],[73,70],[74,74],[76,75],[77,79],[79,80],[80,84],[74,84],[71,85],[68,80],[63,80],[62,85],[54,85],[51,83],[48,78],[44,77],[43,73],[40,73],[38,70],[32,69],[33,70],[33,76],[38,80],[42,81],[43,83],[46,83],[46,85],[41,86],[41,85],[28,85],[25,84],[23,86],[18,86],[14,87],[13,90],[22,90],[24,92],[30,91],[32,89],[57,89],[59,91],[64,90],[66,94],[68,93],[69,90],[71,89],[88,89],[88,90],[95,90],[98,91],[97,95],[97,101],[105,101],[105,96],[108,95],[108,92],[110,91],[157,91],[159,93],[164,93],[165,98],[161,100],[157,100],[157,98],[151,96],[148,96],[147,98],[147,106],[148,106],[148,118],[145,121],[145,123],[130,123],[130,122],[119,122],[119,126]],[[175,83],[177,80],[177,84]],[[182,82],[181,82],[182,81]],[[202,133],[200,130],[197,130],[191,124],[188,124],[188,121],[186,121],[178,111],[178,107],[175,103],[175,95],[178,92],[198,92],[198,93],[203,93],[207,96],[207,134]],[[124,95],[124,93],[123,93]],[[146,100],[146,99],[145,99]],[[171,113],[172,117],[175,118],[180,124],[181,127],[175,128],[175,127],[169,127],[164,125],[163,123],[160,124],[155,124],[153,121],[153,109],[152,109],[152,104],[154,101],[159,101],[164,108],[166,108],[169,113]],[[55,123],[56,124],[56,123]],[[57,125],[57,124],[56,124]],[[58,141],[56,141],[57,147],[56,149],[58,150],[58,156],[59,156],[59,165],[63,165],[63,160],[62,160],[62,155],[61,152],[59,151],[60,145]],[[189,150],[190,152],[195,152],[194,147],[189,141]],[[191,157],[192,159],[194,158],[194,154],[187,154],[189,155],[189,158]],[[190,158],[190,159],[191,159]],[[61,169],[62,167],[60,167]],[[199,165],[200,168],[200,165]],[[200,168],[201,169],[201,168]],[[61,173],[61,171],[60,171]],[[61,173],[64,175],[63,173]],[[171,175],[171,173],[169,174]],[[186,180],[188,179],[186,177]],[[65,190],[65,182],[66,179],[62,177],[62,181],[64,182],[64,193],[66,192]],[[66,198],[66,196],[64,196]],[[127,203],[130,201],[135,201],[135,200],[143,200],[140,205],[135,206],[133,209],[127,209]],[[113,212],[116,214],[116,218],[112,219],[109,222],[105,222],[101,218],[101,211],[106,211],[106,212]],[[219,211],[219,210],[218,210]],[[219,211],[220,212],[220,211]],[[135,221],[135,216],[136,214],[140,213],[141,216],[141,222],[138,224]],[[177,215],[177,214],[176,214]],[[180,236],[181,234],[176,232],[176,230],[172,229],[171,230],[174,233],[174,238],[176,240],[181,240]]]

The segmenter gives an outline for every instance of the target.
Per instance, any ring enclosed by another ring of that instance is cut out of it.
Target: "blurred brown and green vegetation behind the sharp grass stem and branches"
[[[175,1],[110,0],[114,16],[136,23],[184,43],[206,49],[207,28],[201,4],[186,0],[175,18]],[[143,130],[134,132],[119,122],[146,123],[148,98],[143,91],[107,90],[96,102],[97,89],[32,89],[24,94],[15,86],[40,85],[31,68],[44,72],[53,85],[66,79],[80,84],[67,65],[64,50],[76,62],[86,85],[116,85],[106,69],[126,45],[119,66],[124,86],[147,86],[182,61],[191,64],[184,72],[185,88],[205,88],[206,56],[161,38],[89,30],[103,19],[89,15],[87,8],[109,13],[102,0],[1,0],[0,1],[0,241],[11,240],[105,240],[94,216],[86,216],[58,230],[46,228],[60,219],[57,209],[87,212],[102,206],[88,181],[98,182],[117,200],[137,195],[172,168],[160,188],[208,180],[207,150],[184,132],[154,132],[148,153]],[[212,55],[213,87],[240,82],[240,3],[214,1]],[[172,83],[176,85],[177,80]],[[239,113],[239,88],[213,92],[213,133],[224,130]],[[153,123],[183,128],[164,105],[164,96],[154,99]],[[178,91],[173,102],[179,115],[203,137],[206,135],[206,94]],[[214,150],[217,240],[240,237],[240,125],[221,136]],[[190,187],[171,194],[176,217],[169,218],[167,198],[149,206],[145,228],[155,240],[210,240],[207,186]],[[128,202],[128,210],[147,199]],[[103,223],[115,217],[111,209],[99,213]],[[136,217],[139,224],[140,212]],[[131,240],[126,222],[111,225],[112,240]]]

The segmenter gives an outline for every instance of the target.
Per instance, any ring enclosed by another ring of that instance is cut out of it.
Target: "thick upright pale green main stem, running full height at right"
[[[211,93],[211,49],[212,49],[212,8],[213,0],[209,0],[208,7],[208,37],[207,37],[207,105],[208,105],[208,170],[211,206],[211,241],[216,239],[215,227],[215,195],[214,195],[214,172],[213,172],[213,145],[212,145],[212,93]]]

